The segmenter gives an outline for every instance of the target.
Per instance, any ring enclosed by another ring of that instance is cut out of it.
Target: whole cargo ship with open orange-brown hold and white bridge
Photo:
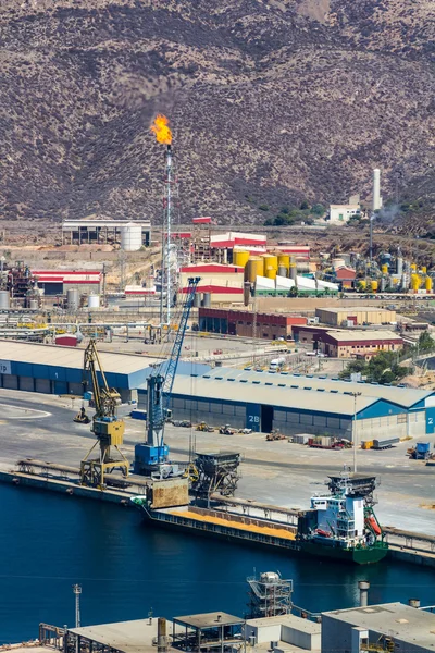
[[[219,501],[209,507],[188,502],[157,507],[152,489],[132,502],[146,521],[165,528],[359,565],[382,560],[388,544],[373,510],[376,478],[345,473],[331,476],[327,484],[330,494],[313,496],[311,508],[293,517],[279,508],[252,517],[246,506]],[[161,493],[162,486],[160,498]]]

